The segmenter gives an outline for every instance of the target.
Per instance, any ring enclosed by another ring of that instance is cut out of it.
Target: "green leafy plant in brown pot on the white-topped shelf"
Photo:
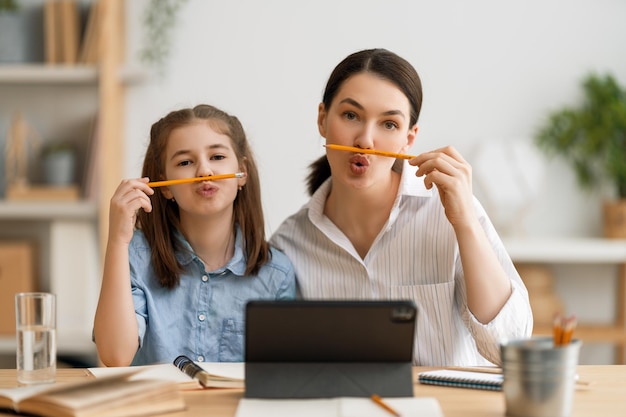
[[[626,90],[610,74],[591,73],[582,87],[582,103],[552,112],[535,143],[547,155],[564,158],[585,190],[610,185],[604,234],[626,238]]]

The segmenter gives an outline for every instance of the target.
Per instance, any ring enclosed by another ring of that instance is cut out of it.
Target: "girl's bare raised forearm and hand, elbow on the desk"
[[[137,210],[152,210],[149,195],[154,191],[147,182],[147,178],[124,180],[111,198],[109,237],[94,321],[98,355],[106,366],[130,365],[139,346],[128,248]]]

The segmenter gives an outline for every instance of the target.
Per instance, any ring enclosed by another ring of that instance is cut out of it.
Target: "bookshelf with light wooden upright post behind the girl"
[[[43,132],[42,140],[63,137],[79,144],[82,175],[97,167],[89,199],[0,199],[0,239],[35,242],[38,285],[57,294],[60,356],[95,355],[91,329],[108,203],[123,175],[124,91],[141,78],[139,72],[123,68],[124,0],[99,1],[98,27],[106,36],[97,37],[97,63],[0,65],[0,114],[19,110]],[[96,160],[88,163],[88,142],[96,119]],[[14,352],[15,336],[0,335],[0,354]]]

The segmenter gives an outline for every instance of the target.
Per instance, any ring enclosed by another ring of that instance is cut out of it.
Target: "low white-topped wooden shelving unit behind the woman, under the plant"
[[[626,362],[626,240],[601,238],[532,238],[504,239],[511,259],[520,269],[528,267],[549,268],[554,264],[613,264],[617,265],[615,289],[615,314],[610,324],[597,325],[579,323],[576,334],[583,342],[607,342],[615,345],[616,362]],[[595,277],[594,277],[595,278]],[[550,283],[543,283],[544,289]],[[529,296],[532,298],[529,287]],[[543,294],[542,296],[545,296]],[[536,334],[551,334],[549,325],[536,325]]]

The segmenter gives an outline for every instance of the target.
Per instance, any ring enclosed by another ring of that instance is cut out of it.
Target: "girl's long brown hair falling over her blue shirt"
[[[237,160],[247,168],[246,185],[237,193],[233,205],[233,232],[238,224],[243,234],[246,274],[255,275],[271,255],[265,239],[258,170],[237,117],[205,104],[169,113],[150,129],[150,144],[146,150],[142,176],[152,180],[164,179],[165,148],[170,134],[174,129],[198,120],[205,120],[212,129],[230,137]],[[159,283],[162,287],[174,288],[180,283],[180,274],[183,272],[174,254],[176,249],[182,249],[176,238],[176,231],[180,230],[180,214],[175,202],[166,199],[160,189],[155,191],[152,212],[139,210],[137,227],[145,234],[152,250],[152,264]]]

